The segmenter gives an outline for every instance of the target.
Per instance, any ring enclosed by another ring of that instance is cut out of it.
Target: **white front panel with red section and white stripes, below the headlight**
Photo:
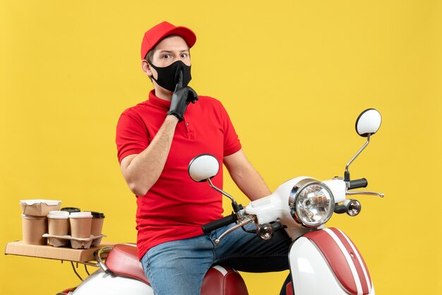
[[[296,295],[374,295],[362,255],[339,229],[301,236],[290,248],[289,263]]]

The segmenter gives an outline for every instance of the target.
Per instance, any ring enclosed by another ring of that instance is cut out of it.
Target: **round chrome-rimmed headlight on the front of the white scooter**
[[[315,179],[299,181],[289,197],[292,216],[306,227],[319,227],[328,222],[335,207],[330,188]]]

